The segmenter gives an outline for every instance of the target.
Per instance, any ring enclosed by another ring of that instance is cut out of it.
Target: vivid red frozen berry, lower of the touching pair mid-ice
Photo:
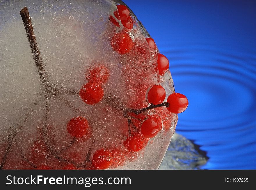
[[[102,100],[104,91],[100,85],[88,82],[82,86],[79,95],[84,103],[94,105]]]

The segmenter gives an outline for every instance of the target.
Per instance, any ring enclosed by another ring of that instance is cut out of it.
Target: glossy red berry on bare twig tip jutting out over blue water
[[[176,92],[169,95],[167,102],[169,103],[167,110],[171,113],[182,113],[189,105],[187,97]]]

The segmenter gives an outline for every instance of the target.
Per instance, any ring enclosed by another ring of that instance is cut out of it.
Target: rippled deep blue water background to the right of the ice
[[[256,169],[256,1],[125,3],[189,99],[176,130],[207,152],[202,169]]]

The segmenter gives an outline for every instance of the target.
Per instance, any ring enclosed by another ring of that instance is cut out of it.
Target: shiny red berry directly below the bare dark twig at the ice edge
[[[154,137],[161,129],[162,123],[156,117],[149,116],[141,124],[141,133],[144,137]]]

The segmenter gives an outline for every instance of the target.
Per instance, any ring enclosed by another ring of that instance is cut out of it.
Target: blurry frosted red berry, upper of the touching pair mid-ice
[[[104,65],[97,65],[93,69],[88,70],[86,79],[91,84],[105,84],[109,79],[109,69]]]

